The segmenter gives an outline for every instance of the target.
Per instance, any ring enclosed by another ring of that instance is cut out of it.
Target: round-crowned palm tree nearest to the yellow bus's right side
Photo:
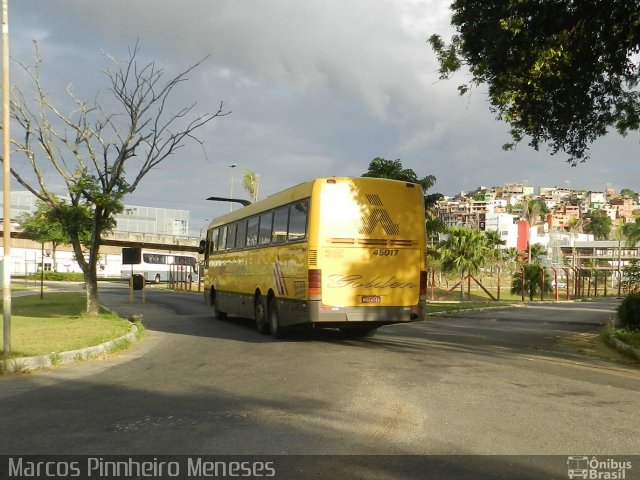
[[[440,242],[440,255],[444,271],[460,274],[460,300],[464,300],[465,272],[474,274],[490,255],[487,237],[477,230],[451,227],[447,239]]]

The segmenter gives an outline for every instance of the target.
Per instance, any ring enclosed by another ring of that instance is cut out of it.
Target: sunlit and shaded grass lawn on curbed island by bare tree
[[[129,333],[131,324],[114,314],[84,315],[82,293],[47,293],[11,300],[11,357],[47,355],[99,345]],[[0,358],[4,358],[0,353]]]

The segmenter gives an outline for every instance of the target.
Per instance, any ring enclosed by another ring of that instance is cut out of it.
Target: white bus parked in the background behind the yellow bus
[[[142,275],[148,283],[198,282],[198,260],[181,253],[162,253],[143,250],[140,263],[122,265],[120,277],[128,280],[132,275]]]

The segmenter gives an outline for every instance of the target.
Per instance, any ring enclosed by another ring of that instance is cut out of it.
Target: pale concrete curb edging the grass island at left
[[[131,330],[126,335],[109,340],[92,347],[70,350],[68,352],[52,352],[48,355],[34,357],[17,357],[9,360],[0,360],[0,374],[23,372],[28,373],[42,368],[57,367],[70,363],[88,360],[109,353],[115,346],[122,342],[135,342],[138,338],[138,327],[131,325]]]

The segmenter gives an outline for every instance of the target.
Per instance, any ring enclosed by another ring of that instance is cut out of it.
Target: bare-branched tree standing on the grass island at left
[[[124,61],[107,56],[112,66],[104,73],[113,96],[108,104],[112,109],[99,103],[97,97],[91,104],[80,100],[67,87],[74,108],[64,114],[42,87],[42,60],[34,44],[35,64],[18,65],[31,80],[35,96],[27,98],[18,88],[12,92],[11,116],[23,133],[12,143],[26,162],[21,167],[13,162],[11,172],[50,208],[69,233],[84,274],[87,314],[96,315],[98,250],[102,234],[113,227],[114,215],[122,211],[123,199],[186,141],[199,142],[194,137],[198,128],[230,112],[224,111],[223,103],[215,113],[195,114],[195,103],[170,111],[169,98],[174,89],[204,59],[167,79],[155,63],[139,63],[140,47],[136,43]],[[60,181],[66,187],[66,199],[52,190],[51,184]],[[90,242],[85,249],[82,235],[87,229]]]

